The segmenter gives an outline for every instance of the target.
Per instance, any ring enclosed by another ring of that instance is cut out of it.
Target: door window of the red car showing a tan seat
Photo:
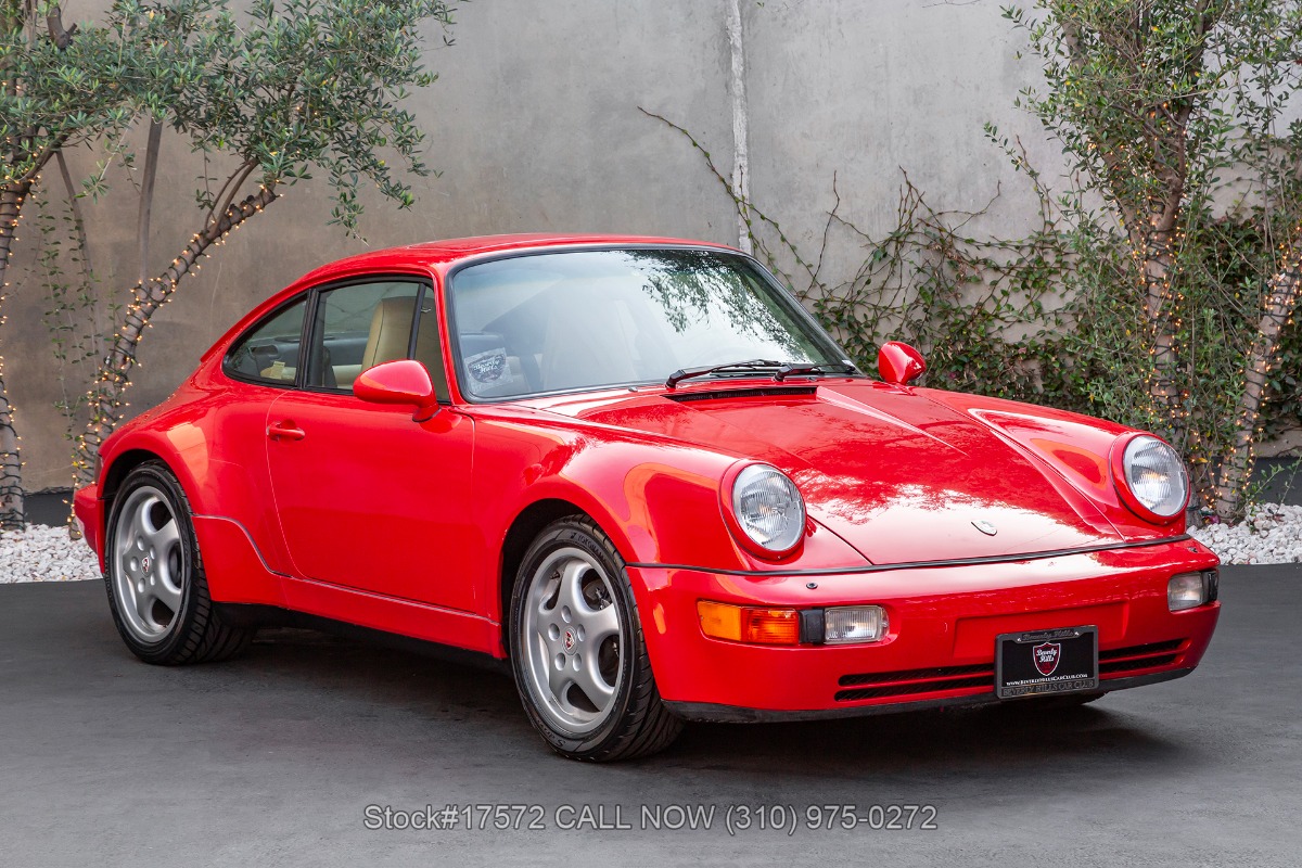
[[[350,392],[366,368],[408,358],[422,284],[352,284],[320,293],[311,338],[310,388]]]

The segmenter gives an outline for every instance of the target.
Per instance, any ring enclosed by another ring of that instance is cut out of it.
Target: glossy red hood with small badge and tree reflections
[[[1053,467],[911,389],[858,380],[729,385],[549,410],[768,462],[796,481],[814,521],[872,563],[1121,539]]]

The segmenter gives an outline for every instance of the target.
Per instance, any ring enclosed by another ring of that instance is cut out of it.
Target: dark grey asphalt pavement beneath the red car
[[[1295,867],[1302,565],[1221,586],[1198,671],[1075,712],[693,725],[621,765],[549,753],[492,673],[288,630],[147,666],[100,583],[0,586],[0,863]]]

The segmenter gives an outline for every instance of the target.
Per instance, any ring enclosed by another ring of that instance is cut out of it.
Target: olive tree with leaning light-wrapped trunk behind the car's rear
[[[150,33],[165,1],[118,3],[109,26],[133,39]],[[324,174],[335,191],[331,223],[354,233],[362,213],[359,185],[371,182],[400,207],[414,202],[393,170],[427,173],[423,134],[400,105],[411,87],[435,74],[422,65],[421,27],[434,20],[444,31],[453,9],[441,0],[258,0],[246,16],[224,0],[193,0],[185,43],[150,44],[150,137],[142,163],[138,220],[139,281],[115,329],[91,389],[91,416],[77,441],[79,481],[122,418],[124,393],[135,354],[154,314],[171,299],[214,245],[276,202],[284,187]],[[444,36],[445,42],[448,40]],[[161,126],[189,138],[228,170],[199,193],[195,232],[161,269],[148,249],[152,183]]]

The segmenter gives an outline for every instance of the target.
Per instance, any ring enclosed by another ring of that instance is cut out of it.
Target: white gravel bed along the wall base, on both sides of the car
[[[1302,562],[1302,506],[1260,504],[1240,524],[1208,524],[1190,534],[1225,563]],[[30,524],[0,531],[0,584],[99,579],[95,553],[66,527]]]

